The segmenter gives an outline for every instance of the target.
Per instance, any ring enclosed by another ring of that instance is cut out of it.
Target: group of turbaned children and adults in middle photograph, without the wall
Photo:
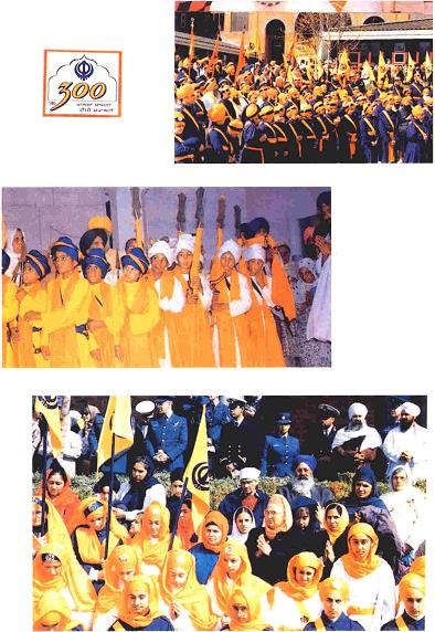
[[[120,264],[106,217],[91,218],[78,245],[63,235],[47,252],[8,230],[3,366],[330,366],[330,192],[317,209],[304,233],[312,257],[296,264],[256,218],[226,241],[217,228],[209,271],[201,227],[146,249],[129,239]]]

